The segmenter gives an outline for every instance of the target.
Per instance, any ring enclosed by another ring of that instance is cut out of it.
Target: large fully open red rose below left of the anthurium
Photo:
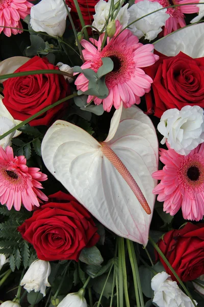
[[[41,206],[17,230],[33,245],[39,259],[78,261],[84,247],[98,242],[97,228],[73,196],[58,192],[49,198],[56,202]]]

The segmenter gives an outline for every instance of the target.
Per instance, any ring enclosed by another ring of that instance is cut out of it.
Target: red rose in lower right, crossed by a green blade
[[[204,274],[204,224],[187,223],[180,230],[167,232],[158,246],[182,281],[193,280]],[[162,260],[166,272],[176,280]]]

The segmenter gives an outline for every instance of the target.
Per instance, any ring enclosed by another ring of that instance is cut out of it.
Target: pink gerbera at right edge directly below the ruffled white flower
[[[169,145],[168,145],[169,147]],[[181,156],[173,149],[160,149],[163,170],[152,174],[161,182],[152,191],[164,201],[164,211],[174,215],[182,207],[186,220],[199,221],[204,215],[204,143]]]

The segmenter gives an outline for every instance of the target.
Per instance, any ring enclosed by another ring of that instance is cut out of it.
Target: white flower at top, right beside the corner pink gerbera
[[[66,18],[67,10],[62,0],[41,0],[31,8],[30,23],[36,32],[62,36],[66,28]]]

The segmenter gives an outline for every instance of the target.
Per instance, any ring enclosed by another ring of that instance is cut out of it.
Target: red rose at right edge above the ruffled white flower
[[[154,82],[145,94],[147,114],[161,117],[170,108],[185,105],[204,107],[204,57],[193,59],[180,52],[176,56],[160,55],[160,59],[144,69]]]

